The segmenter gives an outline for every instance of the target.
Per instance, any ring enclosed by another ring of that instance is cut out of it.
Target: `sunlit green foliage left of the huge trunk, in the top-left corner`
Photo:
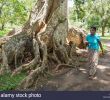
[[[0,0],[0,29],[22,25],[27,20],[35,0]]]

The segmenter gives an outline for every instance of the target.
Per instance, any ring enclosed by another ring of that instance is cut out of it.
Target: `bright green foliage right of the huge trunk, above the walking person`
[[[96,26],[99,29],[110,28],[110,0],[73,0],[69,18],[81,22],[84,28]],[[73,24],[74,25],[74,24]]]

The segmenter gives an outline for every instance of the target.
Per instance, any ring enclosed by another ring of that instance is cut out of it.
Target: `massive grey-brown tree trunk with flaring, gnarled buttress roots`
[[[22,30],[2,46],[1,72],[10,70],[12,76],[22,71],[29,72],[19,89],[39,88],[39,77],[52,67],[52,63],[75,66],[76,59],[72,59],[74,55],[76,57],[75,45],[71,44],[68,50],[67,33],[67,0],[38,0]],[[34,55],[27,64],[23,63],[25,52]]]

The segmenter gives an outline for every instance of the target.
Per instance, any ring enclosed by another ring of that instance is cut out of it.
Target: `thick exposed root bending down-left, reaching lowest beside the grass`
[[[33,70],[21,83],[20,87],[23,89],[27,89],[31,87],[35,80],[37,80],[38,76],[44,72],[44,70],[48,67],[47,64],[47,46],[45,44],[42,45],[43,48],[43,61],[41,67]]]

